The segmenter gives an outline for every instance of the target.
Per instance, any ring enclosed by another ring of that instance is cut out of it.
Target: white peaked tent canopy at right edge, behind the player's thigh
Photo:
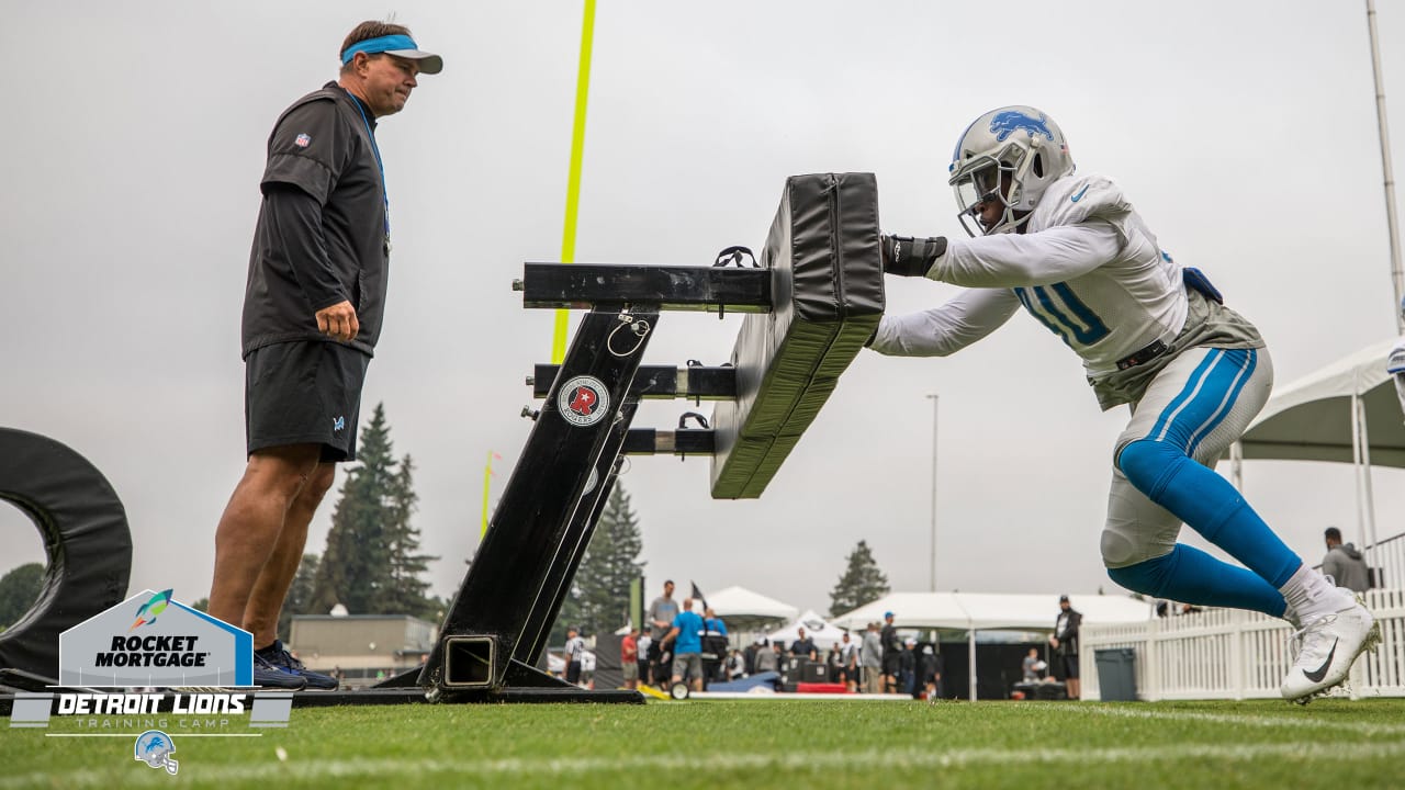
[[[1405,467],[1405,420],[1385,371],[1395,343],[1374,343],[1280,388],[1239,440],[1243,457],[1353,462],[1352,396],[1359,395],[1371,464]]]

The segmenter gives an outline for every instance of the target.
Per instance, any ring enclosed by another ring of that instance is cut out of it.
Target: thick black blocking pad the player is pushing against
[[[747,315],[732,349],[736,401],[712,412],[712,498],[754,499],[799,441],[884,311],[873,173],[785,180],[760,266],[771,312]]]

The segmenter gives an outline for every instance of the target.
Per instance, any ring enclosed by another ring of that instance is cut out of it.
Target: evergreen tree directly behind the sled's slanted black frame
[[[629,620],[629,583],[643,572],[642,551],[639,517],[617,482],[556,616],[552,644],[565,641],[568,626],[580,626],[586,634],[610,634]]]

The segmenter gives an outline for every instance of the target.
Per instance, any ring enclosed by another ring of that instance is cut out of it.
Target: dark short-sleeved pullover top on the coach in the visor
[[[249,254],[243,356],[288,340],[329,340],[316,311],[350,301],[371,354],[381,336],[389,219],[375,118],[327,83],[295,101],[268,136],[264,193]]]

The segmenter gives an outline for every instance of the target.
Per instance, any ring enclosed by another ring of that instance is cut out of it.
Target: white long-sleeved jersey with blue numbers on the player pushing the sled
[[[927,277],[971,290],[930,311],[884,316],[874,350],[946,356],[1023,305],[1097,378],[1156,340],[1169,344],[1189,311],[1180,266],[1102,176],[1050,184],[1024,233],[950,239]]]

